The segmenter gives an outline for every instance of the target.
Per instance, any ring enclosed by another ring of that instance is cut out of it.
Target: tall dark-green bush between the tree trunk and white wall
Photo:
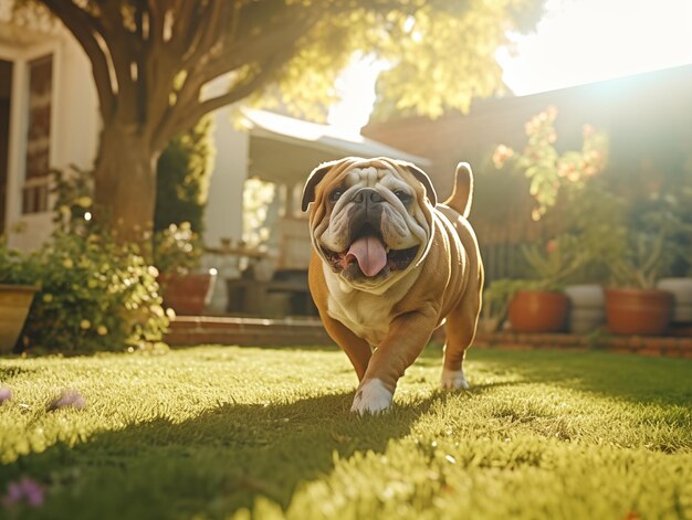
[[[213,119],[203,117],[188,132],[170,141],[157,165],[154,230],[190,222],[203,231],[209,178],[213,170]]]

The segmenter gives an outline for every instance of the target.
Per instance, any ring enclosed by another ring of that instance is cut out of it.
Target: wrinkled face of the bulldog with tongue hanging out
[[[346,158],[322,165],[303,191],[313,246],[348,286],[389,287],[418,265],[432,236],[437,201],[428,176],[391,159]]]

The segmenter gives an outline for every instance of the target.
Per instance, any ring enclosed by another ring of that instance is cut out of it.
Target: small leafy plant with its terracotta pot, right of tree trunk
[[[155,234],[154,263],[164,305],[179,315],[199,316],[211,299],[217,270],[200,272],[202,244],[189,222]]]

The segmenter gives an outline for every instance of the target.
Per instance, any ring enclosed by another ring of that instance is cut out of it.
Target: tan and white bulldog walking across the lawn
[[[457,167],[441,204],[410,162],[348,157],[319,165],[303,189],[313,244],[310,289],[359,385],[352,412],[391,405],[399,378],[447,322],[441,385],[468,389],[462,363],[481,309],[483,264],[466,217],[473,174]]]

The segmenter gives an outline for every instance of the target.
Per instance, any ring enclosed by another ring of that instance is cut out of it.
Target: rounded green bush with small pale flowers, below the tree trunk
[[[24,327],[27,349],[149,349],[168,327],[156,268],[105,234],[56,232],[23,270],[41,286]]]

